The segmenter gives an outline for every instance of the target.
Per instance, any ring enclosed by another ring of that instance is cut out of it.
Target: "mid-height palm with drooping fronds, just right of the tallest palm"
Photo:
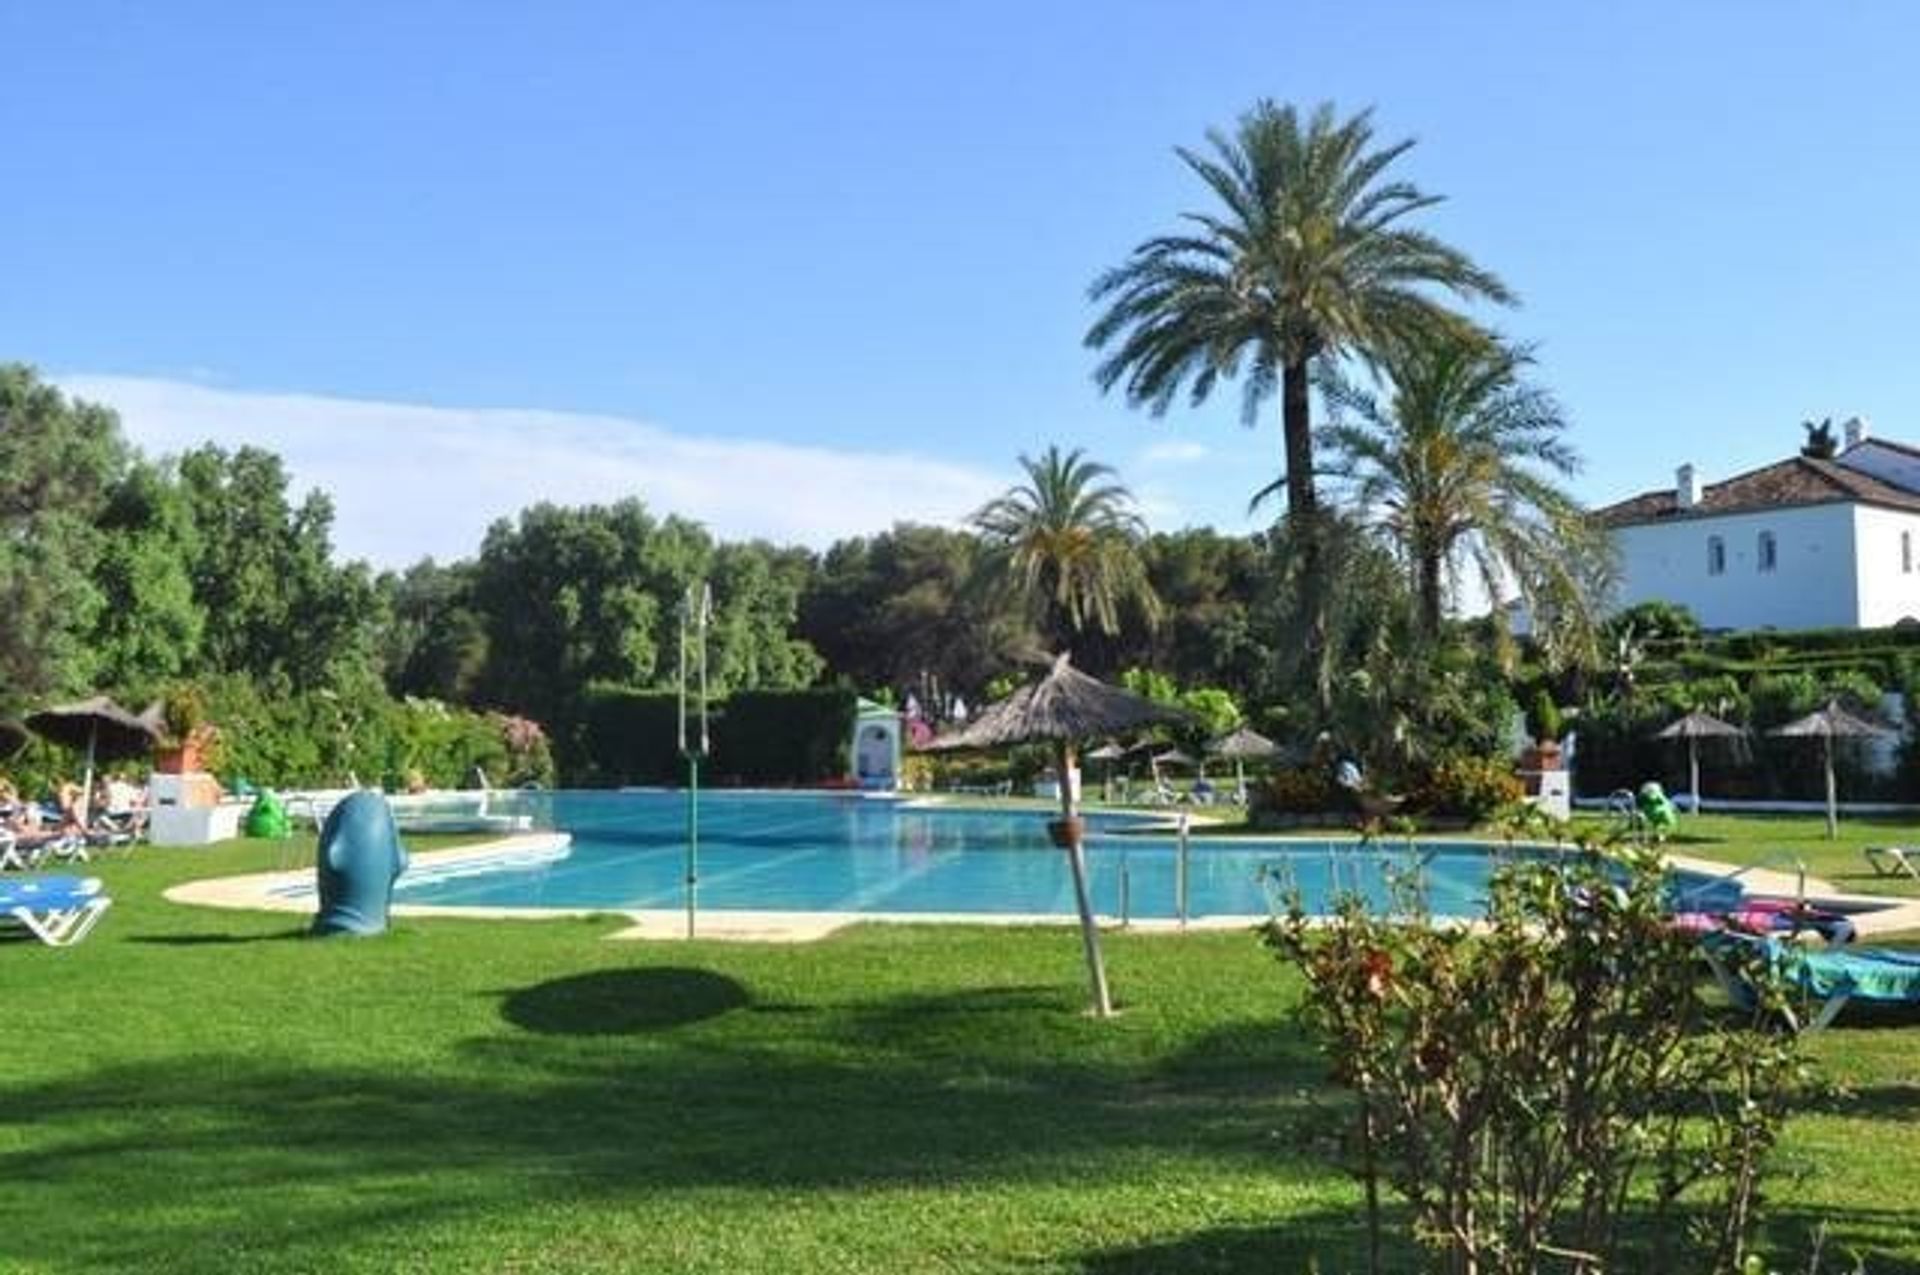
[[[1342,376],[1321,396],[1323,440],[1344,459],[1352,497],[1405,563],[1421,632],[1434,636],[1463,570],[1540,611],[1588,591],[1603,541],[1555,480],[1578,472],[1559,403],[1523,380],[1524,349],[1438,332],[1379,359],[1388,399]]]

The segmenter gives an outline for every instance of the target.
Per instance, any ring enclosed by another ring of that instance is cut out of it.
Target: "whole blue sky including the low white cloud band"
[[[1277,424],[1102,397],[1085,286],[1200,204],[1175,144],[1332,98],[1419,138],[1609,501],[1803,417],[1920,442],[1910,13],[15,4],[0,359],[275,445],[382,563],[622,492],[822,543],[1048,442],[1250,530]]]

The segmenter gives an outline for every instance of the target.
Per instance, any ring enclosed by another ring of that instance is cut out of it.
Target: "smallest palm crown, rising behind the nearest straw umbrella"
[[[989,572],[1025,601],[1043,634],[1058,647],[1089,624],[1116,634],[1127,603],[1156,616],[1160,603],[1139,555],[1146,524],[1114,470],[1058,445],[1039,459],[1020,457],[1020,467],[1027,480],[970,522],[985,541]]]

